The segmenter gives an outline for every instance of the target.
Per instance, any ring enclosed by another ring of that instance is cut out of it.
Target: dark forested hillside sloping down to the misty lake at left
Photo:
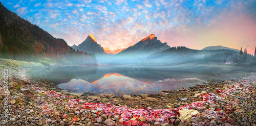
[[[1,41],[2,40],[2,41]],[[19,17],[0,3],[0,57],[22,61],[97,64],[95,55],[76,52],[36,24]]]

